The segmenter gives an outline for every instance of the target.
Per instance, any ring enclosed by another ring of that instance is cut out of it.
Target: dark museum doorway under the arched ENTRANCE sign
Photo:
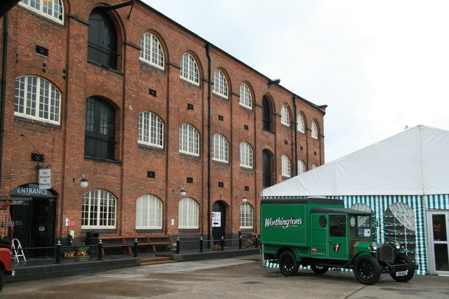
[[[25,255],[29,257],[51,257],[55,246],[55,202],[51,190],[39,189],[29,183],[11,191],[10,213],[13,236],[18,238]]]

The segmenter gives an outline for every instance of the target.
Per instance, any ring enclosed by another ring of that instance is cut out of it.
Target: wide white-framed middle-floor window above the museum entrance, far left
[[[60,124],[61,93],[38,76],[15,78],[14,115]]]

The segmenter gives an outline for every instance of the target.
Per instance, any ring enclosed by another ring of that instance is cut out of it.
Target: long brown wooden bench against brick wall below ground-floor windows
[[[135,239],[138,240],[138,246],[147,246],[149,252],[157,252],[156,246],[158,245],[168,245],[173,243],[170,235],[100,236],[98,239],[101,239],[103,242],[102,256],[105,256],[105,248],[110,247],[121,247],[121,253],[133,254],[132,248]]]

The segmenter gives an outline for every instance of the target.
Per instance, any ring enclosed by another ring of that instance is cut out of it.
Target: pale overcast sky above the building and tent
[[[449,1],[144,0],[310,102],[330,162],[404,127],[449,130]]]

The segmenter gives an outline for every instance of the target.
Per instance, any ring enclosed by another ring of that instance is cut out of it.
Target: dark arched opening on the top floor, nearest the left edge
[[[88,30],[88,62],[116,69],[117,33],[109,15],[95,8],[89,16]]]

